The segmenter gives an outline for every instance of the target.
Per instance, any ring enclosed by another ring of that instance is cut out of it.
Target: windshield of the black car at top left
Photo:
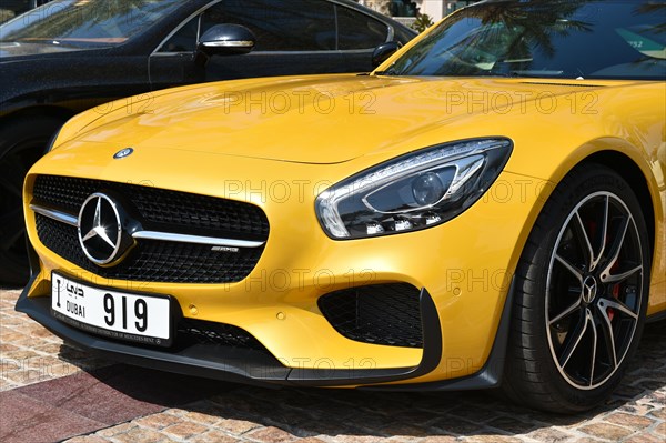
[[[59,0],[0,27],[0,42],[75,48],[121,44],[173,11],[178,0]]]

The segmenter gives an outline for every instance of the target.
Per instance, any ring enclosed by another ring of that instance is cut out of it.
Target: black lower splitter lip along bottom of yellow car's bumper
[[[36,254],[31,254],[34,263]],[[125,363],[202,376],[206,379],[258,385],[300,386],[364,386],[380,390],[461,391],[491,389],[500,385],[508,338],[513,283],[486,364],[474,375],[421,384],[382,384],[417,379],[434,371],[442,359],[442,330],[435,303],[428,292],[421,291],[420,304],[423,325],[423,356],[416,366],[394,369],[307,369],[287,368],[278,359],[261,351],[192,345],[179,352],[141,348],[100,336],[93,336],[54,319],[49,298],[28,298],[38,273],[21,293],[16,310],[28,314],[49,331],[79,348]],[[374,385],[374,386],[373,386]]]

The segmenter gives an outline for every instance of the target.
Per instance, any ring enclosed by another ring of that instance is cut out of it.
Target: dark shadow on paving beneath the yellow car
[[[75,363],[77,359],[68,352],[69,355],[61,356]],[[521,407],[490,392],[271,390],[125,365],[91,374],[139,401],[278,426],[297,436],[516,435],[554,425],[573,425],[612,410],[630,411],[638,399],[663,396],[663,391],[656,391],[666,386],[666,322],[646,326],[635,361],[606,404],[571,416]]]

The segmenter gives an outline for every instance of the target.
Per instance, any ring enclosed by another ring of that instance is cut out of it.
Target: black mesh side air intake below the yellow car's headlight
[[[421,291],[411,284],[375,284],[332,292],[319,308],[347,339],[390,346],[423,348]]]

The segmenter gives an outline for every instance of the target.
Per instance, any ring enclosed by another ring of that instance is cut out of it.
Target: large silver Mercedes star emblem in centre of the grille
[[[95,264],[109,264],[119,258],[122,223],[118,205],[103,193],[85,200],[79,213],[79,242],[85,256]]]

